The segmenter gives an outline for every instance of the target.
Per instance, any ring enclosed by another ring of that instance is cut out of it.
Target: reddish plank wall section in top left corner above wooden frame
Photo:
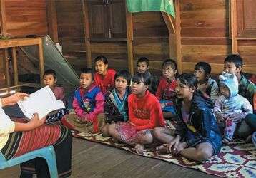
[[[45,0],[8,0],[6,4],[6,31],[11,36],[48,33]]]

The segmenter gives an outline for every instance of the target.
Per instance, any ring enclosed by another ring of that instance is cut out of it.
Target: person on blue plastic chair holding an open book
[[[9,160],[26,152],[31,152],[49,145],[54,146],[59,177],[71,175],[72,135],[67,127],[44,125],[45,117],[39,120],[37,114],[27,123],[13,122],[1,107],[15,105],[18,100],[29,96],[15,93],[0,99],[0,150]],[[40,137],[40,139],[38,139]],[[49,177],[48,166],[44,159],[32,159],[21,164],[20,177]]]

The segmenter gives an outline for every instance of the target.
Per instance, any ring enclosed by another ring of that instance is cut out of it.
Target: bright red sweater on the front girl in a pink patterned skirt
[[[164,126],[161,105],[149,91],[146,92],[143,98],[137,98],[137,95],[133,93],[129,95],[128,108],[129,122],[132,122],[137,130]]]

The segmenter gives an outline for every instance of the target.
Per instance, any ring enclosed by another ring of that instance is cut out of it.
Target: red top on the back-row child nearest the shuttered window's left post
[[[116,71],[113,69],[108,69],[107,74],[104,76],[99,75],[99,73],[94,74],[94,82],[100,88],[100,90],[102,90],[102,93],[104,93],[104,95],[107,93],[109,89],[114,88],[115,74]]]

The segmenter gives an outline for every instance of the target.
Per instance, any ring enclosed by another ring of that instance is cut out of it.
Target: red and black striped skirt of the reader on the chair
[[[69,176],[71,174],[72,135],[67,127],[42,125],[27,132],[12,132],[6,145],[1,149],[1,153],[9,160],[49,145],[54,146],[59,177]],[[47,164],[41,158],[22,163],[21,174],[49,177]]]

